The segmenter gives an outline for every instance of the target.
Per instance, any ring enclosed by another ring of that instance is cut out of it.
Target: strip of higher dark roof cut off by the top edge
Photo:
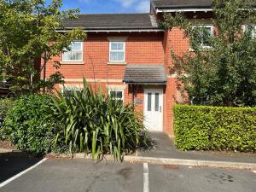
[[[153,0],[151,3],[158,9],[178,8],[211,8],[212,0]]]

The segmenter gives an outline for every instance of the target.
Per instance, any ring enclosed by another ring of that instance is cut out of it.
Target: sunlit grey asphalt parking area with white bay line
[[[9,172],[2,164],[0,171]],[[2,180],[5,175],[1,173]],[[6,184],[0,191],[254,192],[255,189],[256,173],[252,171],[49,159]]]

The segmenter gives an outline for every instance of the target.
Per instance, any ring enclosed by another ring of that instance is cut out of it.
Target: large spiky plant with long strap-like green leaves
[[[99,91],[93,93],[85,81],[81,92],[58,93],[53,102],[53,118],[65,125],[57,131],[55,144],[66,143],[71,153],[91,153],[95,160],[101,154],[113,154],[121,160],[123,153],[146,141],[143,120],[132,106]]]

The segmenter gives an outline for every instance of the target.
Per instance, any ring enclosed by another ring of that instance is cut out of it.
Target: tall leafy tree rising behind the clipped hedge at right
[[[253,1],[213,1],[214,35],[183,14],[166,14],[162,26],[183,29],[193,51],[177,55],[174,67],[194,104],[256,106],[256,24]],[[246,30],[244,27],[246,26]],[[254,33],[255,34],[255,33]],[[202,41],[207,46],[202,46]]]

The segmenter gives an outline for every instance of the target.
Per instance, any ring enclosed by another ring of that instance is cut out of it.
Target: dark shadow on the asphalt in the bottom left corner
[[[36,164],[42,158],[20,155],[19,152],[0,154],[0,183]]]

